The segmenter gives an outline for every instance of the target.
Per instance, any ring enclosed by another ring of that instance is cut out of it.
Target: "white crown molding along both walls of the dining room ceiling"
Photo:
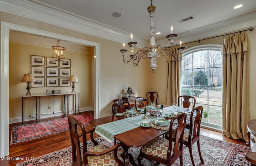
[[[130,42],[130,33],[128,32],[33,2],[27,0],[19,0],[18,2],[16,0],[0,0],[0,10],[85,34],[98,36],[100,38],[113,40],[121,44],[123,42]],[[185,44],[186,42],[202,40],[204,38],[219,36],[254,26],[256,26],[256,11],[182,32],[178,34],[178,37],[174,40],[174,45],[178,45],[180,40]],[[136,46],[139,48],[149,46],[149,39],[134,36],[134,41],[138,42]],[[156,40],[156,45],[170,46],[170,42],[166,38],[161,38]]]

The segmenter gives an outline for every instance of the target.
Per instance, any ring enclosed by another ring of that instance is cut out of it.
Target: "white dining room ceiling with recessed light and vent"
[[[134,36],[149,39],[150,0],[28,0],[73,16],[93,20],[114,29],[130,32]],[[237,4],[242,8],[234,9]],[[256,0],[152,0],[156,40],[170,34],[171,25],[175,34],[200,33],[204,28],[214,28],[237,22],[238,16],[256,12]],[[122,16],[113,17],[112,12]],[[192,20],[178,20],[194,16]],[[242,19],[242,18],[241,18]]]

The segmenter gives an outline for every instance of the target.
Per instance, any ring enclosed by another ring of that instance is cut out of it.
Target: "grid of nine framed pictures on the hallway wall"
[[[68,78],[71,73],[71,60],[56,61],[52,57],[31,56],[31,74],[36,82],[31,87],[70,86]]]

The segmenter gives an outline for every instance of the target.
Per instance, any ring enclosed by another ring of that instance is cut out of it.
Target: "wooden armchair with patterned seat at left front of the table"
[[[122,157],[117,154],[118,147],[123,146],[122,143],[115,144],[111,148],[106,145],[99,145],[98,142],[93,138],[95,128],[86,129],[86,131],[84,125],[71,115],[68,116],[68,126],[72,144],[73,166],[101,166],[102,164],[111,166],[124,165]],[[78,126],[80,126],[79,130],[77,130]],[[86,134],[88,133],[90,133],[91,141],[94,144],[94,146],[90,149],[88,149],[86,143]],[[80,149],[81,136],[82,153]]]

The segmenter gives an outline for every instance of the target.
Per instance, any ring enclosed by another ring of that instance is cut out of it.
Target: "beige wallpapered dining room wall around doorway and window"
[[[0,20],[100,43],[100,117],[111,114],[111,105],[113,99],[117,97],[117,92],[120,90],[126,90],[128,86],[131,86],[134,90],[138,91],[139,96],[142,97],[146,96],[147,91],[157,91],[159,93],[158,103],[165,103],[167,70],[166,58],[158,58],[156,73],[152,74],[149,67],[150,61],[148,59],[141,60],[137,67],[134,67],[132,64],[124,64],[122,62],[122,55],[119,51],[122,48],[122,43],[16,16],[6,12],[0,12]],[[254,89],[256,86],[256,74],[254,72],[256,70],[256,66],[254,65],[256,64],[256,58],[254,58],[256,55],[256,49],[254,47],[256,45],[256,30],[247,33],[250,38],[251,46],[249,95],[250,118],[253,119],[256,118],[256,113],[254,111],[256,103],[253,102],[256,99],[256,96],[254,95]],[[190,44],[184,44],[184,46],[186,46],[187,49],[192,46],[202,44],[221,44],[221,39],[221,37],[212,38],[210,40],[202,40],[200,43],[193,42]]]

